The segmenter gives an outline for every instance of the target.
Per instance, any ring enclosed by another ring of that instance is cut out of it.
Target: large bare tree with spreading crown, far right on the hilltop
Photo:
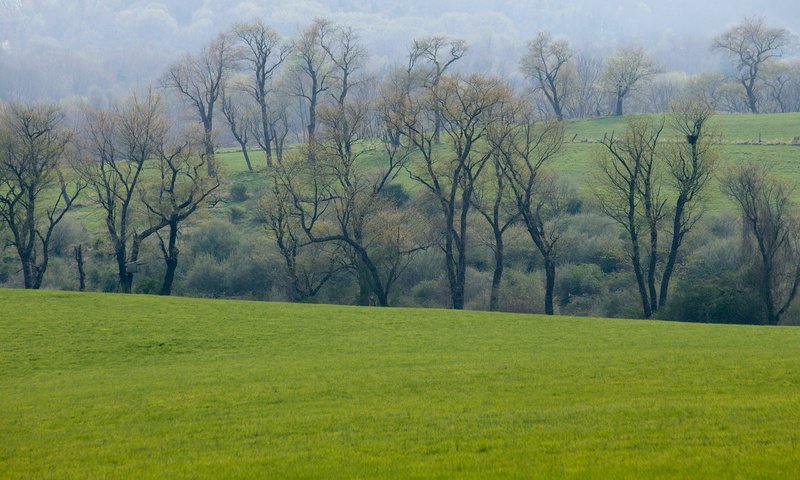
[[[769,27],[761,17],[746,17],[714,37],[711,48],[733,60],[736,80],[745,89],[751,113],[758,113],[756,85],[761,68],[770,59],[782,56],[789,41],[788,30]]]

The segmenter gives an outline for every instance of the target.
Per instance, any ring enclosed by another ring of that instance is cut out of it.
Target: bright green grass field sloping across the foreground
[[[791,478],[800,330],[0,290],[0,478]]]

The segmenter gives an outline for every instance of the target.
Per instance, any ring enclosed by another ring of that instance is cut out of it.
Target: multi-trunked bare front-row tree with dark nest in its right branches
[[[645,318],[666,304],[680,249],[702,216],[716,163],[708,132],[713,112],[704,97],[685,98],[669,117],[675,140],[661,142],[666,120],[637,118],[622,138],[603,141],[600,205],[627,233]],[[666,249],[659,243],[665,233]]]

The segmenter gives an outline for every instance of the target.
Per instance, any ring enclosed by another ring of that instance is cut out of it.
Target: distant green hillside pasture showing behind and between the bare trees
[[[592,185],[599,173],[598,158],[603,148],[599,141],[606,134],[622,134],[628,118],[604,117],[569,121],[567,143],[561,153],[549,163],[549,167],[574,185],[586,199],[591,200]],[[720,191],[718,182],[719,177],[724,176],[734,165],[750,161],[768,162],[772,165],[773,171],[781,178],[788,182],[800,182],[800,144],[792,143],[794,137],[800,137],[800,113],[717,115],[712,119],[711,131],[719,136],[722,144],[718,147],[720,160],[716,171],[717,176],[712,179],[705,192],[706,209],[710,213],[735,208],[731,200]],[[762,140],[760,144],[758,143],[759,133]],[[667,135],[672,134],[671,132],[667,133]],[[382,149],[379,146],[374,148],[373,152],[362,157],[367,168],[380,162]],[[442,156],[447,155],[444,145],[438,148]],[[288,147],[286,155],[293,154],[295,154],[295,149],[291,146]],[[235,183],[246,185],[251,199],[269,188],[264,175],[266,170],[264,152],[253,149],[250,157],[256,170],[254,174],[247,171],[244,157],[239,150],[226,148],[219,151],[217,162],[220,167],[222,185],[218,193],[223,199],[226,198],[230,186]],[[146,173],[145,179],[151,175],[152,173]],[[396,181],[412,192],[421,188],[419,184],[409,178],[407,173],[401,173]],[[53,195],[55,194],[54,192]],[[102,212],[92,207],[92,200],[88,194],[87,191],[79,201],[79,204],[86,208],[79,207],[70,213],[70,216],[82,219],[91,231],[102,233],[104,229]],[[797,200],[800,201],[800,189],[796,195]],[[255,215],[257,206],[252,201],[246,202],[244,205],[223,201],[209,213],[211,216],[225,218],[231,208],[242,209],[250,218]]]

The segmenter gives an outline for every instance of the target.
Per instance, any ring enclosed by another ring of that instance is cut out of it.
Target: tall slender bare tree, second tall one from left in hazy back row
[[[288,45],[281,37],[261,20],[252,23],[238,23],[233,28],[239,42],[244,45],[242,58],[249,67],[250,81],[244,85],[245,90],[253,97],[261,113],[261,137],[267,166],[272,167],[272,141],[269,118],[270,80],[283,64],[290,52]]]

